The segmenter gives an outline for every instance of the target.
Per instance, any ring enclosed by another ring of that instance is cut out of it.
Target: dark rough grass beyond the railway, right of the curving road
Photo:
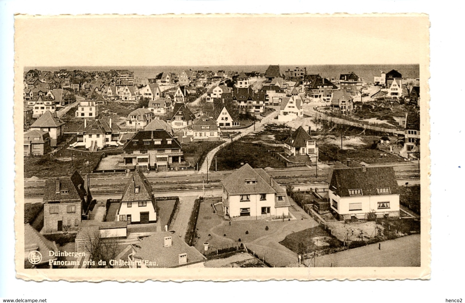
[[[274,158],[268,150],[271,147],[257,143],[249,143],[241,140],[233,141],[221,148],[217,155],[218,170],[226,171],[241,167],[241,163],[248,163],[253,168],[284,168],[285,165],[277,158]],[[214,169],[214,161],[210,169]]]

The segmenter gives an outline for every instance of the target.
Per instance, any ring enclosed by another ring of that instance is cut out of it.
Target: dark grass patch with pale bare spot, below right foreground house
[[[279,242],[279,244],[286,246],[288,249],[295,253],[299,253],[299,243],[304,245],[306,253],[310,253],[315,250],[325,250],[327,248],[336,248],[342,246],[338,239],[332,237],[328,232],[319,226],[294,232],[290,235],[287,235],[283,241]]]

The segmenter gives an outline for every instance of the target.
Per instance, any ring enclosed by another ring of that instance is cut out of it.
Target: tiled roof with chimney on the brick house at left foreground
[[[61,191],[67,191],[62,193]],[[58,177],[45,181],[44,202],[80,202],[86,197],[84,179],[75,171],[71,177]]]

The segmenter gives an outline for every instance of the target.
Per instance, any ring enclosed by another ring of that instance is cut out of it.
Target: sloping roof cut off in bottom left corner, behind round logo
[[[29,224],[24,224],[24,250],[28,251],[37,250],[42,255],[40,263],[48,263],[49,260],[56,260],[56,257],[50,257],[49,251],[58,251],[55,242],[47,240],[40,232],[33,229]],[[27,255],[25,256],[27,260]],[[25,267],[31,266],[29,262],[25,262]]]

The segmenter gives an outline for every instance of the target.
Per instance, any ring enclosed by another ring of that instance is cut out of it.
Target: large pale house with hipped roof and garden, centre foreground
[[[286,190],[263,169],[246,164],[221,181],[225,217],[267,219],[289,216]]]

